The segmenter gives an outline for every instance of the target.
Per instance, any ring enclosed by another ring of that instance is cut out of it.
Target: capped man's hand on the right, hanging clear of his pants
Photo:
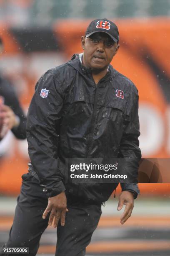
[[[120,218],[120,223],[123,225],[126,220],[131,216],[132,210],[134,207],[134,198],[133,193],[130,191],[122,191],[122,193],[119,196],[119,202],[117,206],[117,210],[120,211],[125,206],[125,210],[122,213],[122,216]]]

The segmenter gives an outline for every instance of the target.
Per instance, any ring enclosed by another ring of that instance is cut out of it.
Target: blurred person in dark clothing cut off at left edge
[[[0,38],[0,53],[3,43]],[[0,140],[11,130],[16,138],[26,138],[26,117],[10,82],[0,74]]]

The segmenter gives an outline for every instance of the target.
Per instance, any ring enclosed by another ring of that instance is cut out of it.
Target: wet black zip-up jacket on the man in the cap
[[[47,97],[41,97],[41,90]],[[117,97],[124,92],[124,99]],[[70,184],[66,182],[67,158],[133,158],[138,176],[141,158],[138,136],[138,91],[111,65],[95,84],[81,54],[48,70],[35,86],[27,120],[28,153],[32,175],[47,188],[49,197],[66,194],[85,200],[106,201],[118,184]],[[122,190],[139,193],[138,185],[121,184]]]

